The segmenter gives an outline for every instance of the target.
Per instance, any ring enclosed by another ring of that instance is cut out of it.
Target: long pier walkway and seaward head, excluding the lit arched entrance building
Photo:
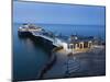
[[[19,34],[26,35],[32,34],[34,37],[42,37],[43,39],[46,39],[52,43],[52,45],[56,47],[63,47],[63,44],[65,43],[62,38],[58,38],[53,34],[52,32],[47,32],[43,30],[42,27],[36,27],[33,25],[23,25],[19,28]]]

